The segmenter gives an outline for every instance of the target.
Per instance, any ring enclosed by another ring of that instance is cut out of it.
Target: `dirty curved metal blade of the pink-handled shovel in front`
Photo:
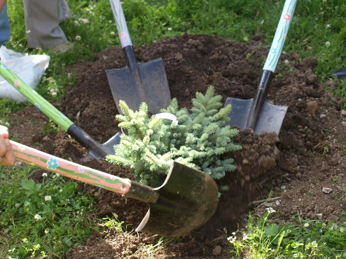
[[[160,194],[136,231],[181,237],[202,226],[218,204],[216,182],[207,174],[173,162]]]

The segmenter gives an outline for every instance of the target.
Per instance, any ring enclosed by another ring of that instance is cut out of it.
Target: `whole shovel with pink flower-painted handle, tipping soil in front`
[[[165,182],[151,188],[10,141],[18,161],[149,203],[137,227],[165,237],[180,237],[202,226],[215,212],[218,188],[207,174],[172,162]]]

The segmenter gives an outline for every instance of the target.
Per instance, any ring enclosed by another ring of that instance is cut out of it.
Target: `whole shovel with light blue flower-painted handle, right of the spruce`
[[[292,20],[296,1],[285,1],[272,46],[263,67],[256,96],[248,100],[231,97],[226,99],[225,106],[232,105],[232,111],[229,113],[231,122],[227,122],[227,125],[237,125],[241,130],[250,127],[258,134],[267,131],[279,135],[287,107],[271,104],[266,98]]]

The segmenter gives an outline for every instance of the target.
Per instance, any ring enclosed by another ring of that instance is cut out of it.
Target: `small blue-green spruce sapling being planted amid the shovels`
[[[236,166],[233,159],[222,159],[222,154],[242,147],[232,142],[239,131],[225,126],[231,105],[222,107],[221,100],[221,95],[215,96],[215,89],[210,86],[206,95],[196,93],[190,113],[186,108],[179,109],[174,98],[161,112],[175,115],[177,122],[155,115],[148,117],[145,103],[134,112],[120,101],[122,114],[116,118],[127,134],[121,134],[120,144],[114,146],[115,155],[108,155],[106,160],[130,167],[137,181],[153,187],[163,183],[172,160],[214,179],[224,177],[226,172],[236,170]]]

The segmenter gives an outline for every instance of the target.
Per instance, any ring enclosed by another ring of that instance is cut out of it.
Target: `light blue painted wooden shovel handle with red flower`
[[[296,3],[297,3],[297,0],[285,1],[283,10],[280,16],[280,21],[279,21],[279,24],[277,25],[272,46],[270,47],[270,51],[265,61],[263,70],[270,70],[273,73],[275,71],[277,62],[279,61],[279,58],[280,58],[283,44],[286,39],[288,28],[290,27],[290,24],[292,21],[293,12],[294,12]]]

